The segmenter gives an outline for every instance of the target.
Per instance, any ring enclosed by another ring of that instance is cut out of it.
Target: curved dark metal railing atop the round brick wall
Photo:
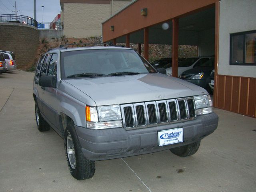
[[[29,16],[5,14],[0,15],[0,22],[24,23],[37,27],[37,21]]]

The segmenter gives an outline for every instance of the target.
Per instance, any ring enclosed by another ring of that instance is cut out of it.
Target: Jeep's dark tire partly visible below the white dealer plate
[[[185,146],[180,146],[180,147],[176,147],[176,148],[172,148],[170,149],[170,151],[180,157],[187,157],[190,155],[194,155],[199,146],[200,146],[200,140],[198,142],[194,142]]]

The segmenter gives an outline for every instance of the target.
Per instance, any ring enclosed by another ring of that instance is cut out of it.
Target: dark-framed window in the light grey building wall
[[[256,30],[230,34],[230,65],[256,66]]]

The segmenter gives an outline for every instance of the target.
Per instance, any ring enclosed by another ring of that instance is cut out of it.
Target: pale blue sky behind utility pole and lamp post
[[[12,10],[15,0],[0,0],[0,14],[15,14]],[[51,22],[57,14],[60,14],[60,0],[36,0],[36,20],[42,22],[42,5],[44,6],[44,22]],[[16,0],[17,12],[34,18],[34,0]]]

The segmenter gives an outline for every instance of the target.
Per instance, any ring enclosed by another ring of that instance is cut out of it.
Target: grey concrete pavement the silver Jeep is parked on
[[[193,156],[166,150],[98,161],[93,178],[74,179],[63,139],[36,127],[33,76],[0,74],[0,192],[256,191],[256,119],[220,109],[217,130]]]

